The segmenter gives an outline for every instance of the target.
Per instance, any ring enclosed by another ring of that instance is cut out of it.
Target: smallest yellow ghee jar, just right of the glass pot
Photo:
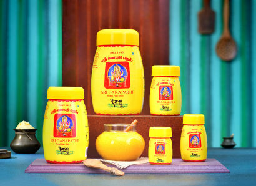
[[[172,163],[172,128],[150,127],[149,163],[170,165]]]

